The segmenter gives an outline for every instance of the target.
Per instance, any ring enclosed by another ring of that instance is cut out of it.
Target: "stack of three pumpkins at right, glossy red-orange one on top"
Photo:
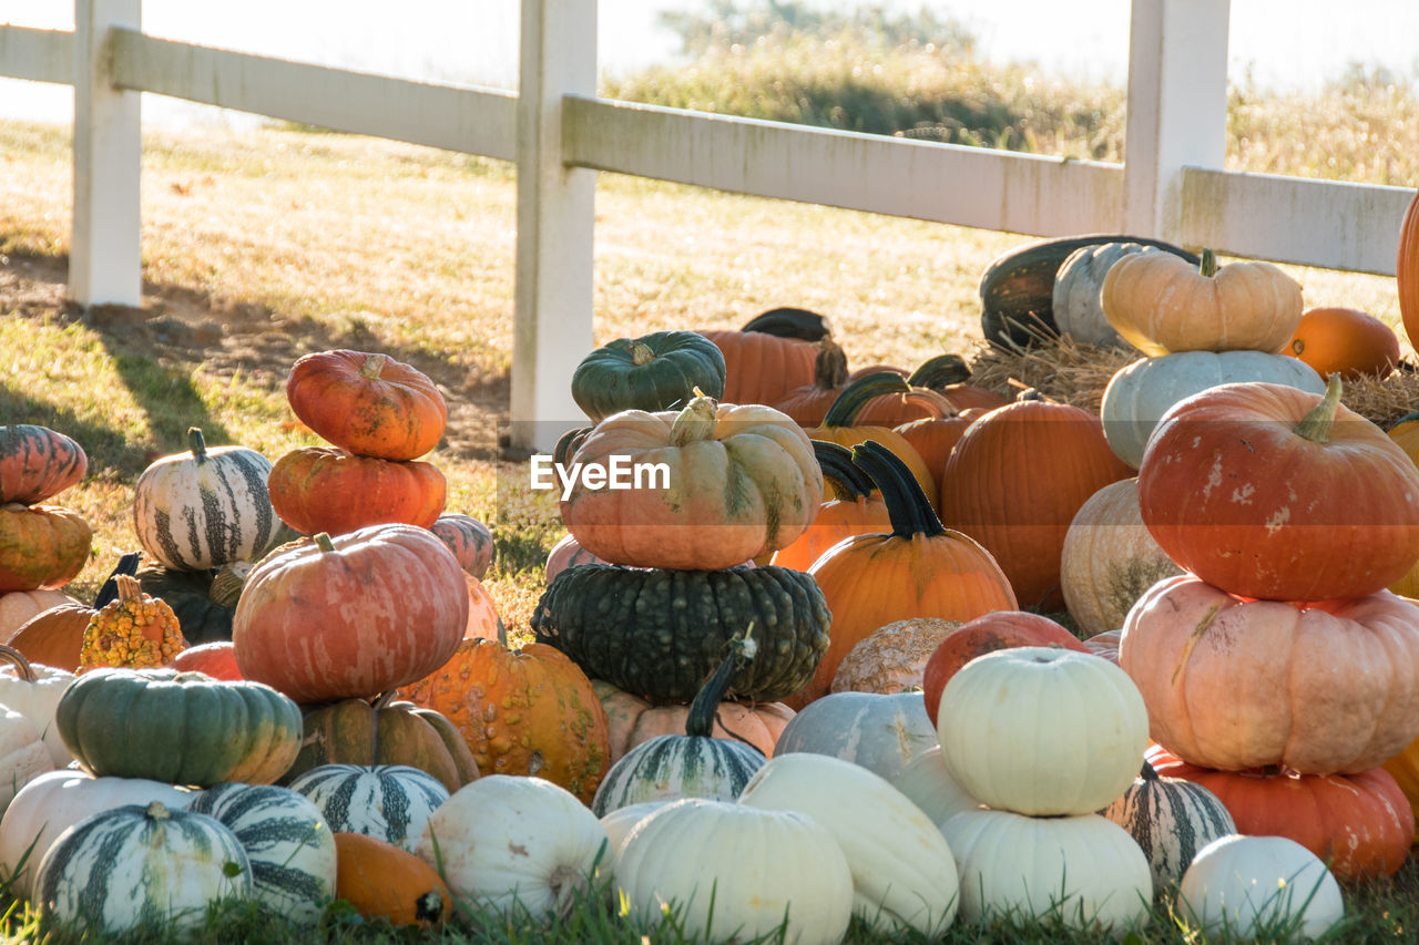
[[[1381,765],[1419,734],[1419,606],[1385,590],[1419,559],[1419,470],[1340,385],[1225,385],[1164,414],[1141,515],[1185,573],[1137,602],[1118,658],[1158,773],[1357,878],[1415,837]]]

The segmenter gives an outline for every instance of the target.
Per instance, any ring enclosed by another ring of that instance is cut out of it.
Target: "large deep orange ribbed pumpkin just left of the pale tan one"
[[[1050,457],[1049,475],[1025,461],[1034,455]],[[990,552],[1022,607],[1059,610],[1070,521],[1088,497],[1131,472],[1108,448],[1098,417],[1027,390],[972,423],[952,448],[941,521]]]

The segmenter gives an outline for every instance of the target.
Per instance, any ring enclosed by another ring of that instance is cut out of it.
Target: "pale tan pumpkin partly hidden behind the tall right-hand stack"
[[[1145,590],[1181,573],[1144,525],[1138,477],[1110,482],[1088,497],[1064,532],[1060,593],[1080,636],[1121,630]]]

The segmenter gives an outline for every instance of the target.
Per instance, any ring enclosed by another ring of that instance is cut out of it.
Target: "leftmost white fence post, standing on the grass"
[[[139,92],[114,87],[111,27],[140,28],[142,0],[77,0],[74,9],[74,231],[70,298],[142,302],[143,163]]]

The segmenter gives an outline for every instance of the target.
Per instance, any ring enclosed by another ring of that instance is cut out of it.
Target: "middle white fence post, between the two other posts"
[[[562,96],[596,94],[596,0],[522,0],[514,447],[586,423],[572,372],[592,349],[596,172],[563,162]]]

